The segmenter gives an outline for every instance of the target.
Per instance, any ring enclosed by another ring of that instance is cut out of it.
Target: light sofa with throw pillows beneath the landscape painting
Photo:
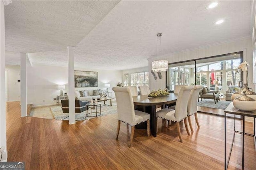
[[[75,97],[81,101],[90,101],[91,99],[100,99],[106,92],[106,89],[78,90],[75,91]]]

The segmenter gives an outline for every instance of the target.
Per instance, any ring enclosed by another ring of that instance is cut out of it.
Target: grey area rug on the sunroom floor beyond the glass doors
[[[221,100],[218,103],[216,102],[215,104],[213,99],[203,99],[203,101],[199,100],[197,105],[202,107],[210,107],[225,110],[230,103],[231,101]]]

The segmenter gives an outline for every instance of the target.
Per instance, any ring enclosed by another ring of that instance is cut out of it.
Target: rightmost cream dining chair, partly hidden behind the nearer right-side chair
[[[191,129],[191,132],[194,132],[192,123],[191,123],[191,118],[190,118],[190,116],[192,116],[192,115],[195,115],[196,125],[200,128],[198,118],[197,118],[197,99],[198,99],[199,91],[202,88],[203,88],[203,86],[201,86],[201,85],[194,86],[194,89],[191,91],[191,93],[188,97],[188,123],[189,123],[189,127]]]

